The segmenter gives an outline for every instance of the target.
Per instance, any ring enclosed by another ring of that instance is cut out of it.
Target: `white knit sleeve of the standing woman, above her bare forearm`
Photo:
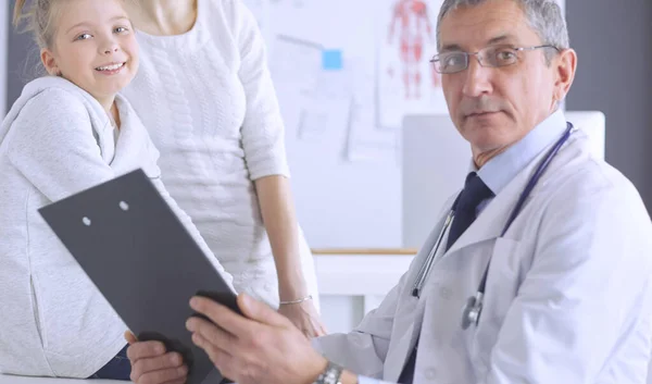
[[[266,48],[255,17],[240,0],[233,0],[235,38],[240,52],[238,75],[247,98],[242,146],[251,179],[289,177],[285,126],[267,66]]]

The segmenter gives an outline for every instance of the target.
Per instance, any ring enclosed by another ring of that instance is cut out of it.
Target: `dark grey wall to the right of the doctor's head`
[[[568,1],[570,46],[579,55],[569,110],[606,115],[606,160],[652,211],[652,1]]]

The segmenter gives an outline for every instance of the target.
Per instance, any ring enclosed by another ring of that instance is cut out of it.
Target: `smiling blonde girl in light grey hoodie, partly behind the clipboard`
[[[226,281],[160,181],[159,152],[117,92],[138,70],[122,0],[17,0],[49,76],[0,127],[0,372],[129,379],[126,331],[38,208],[143,169]],[[180,360],[179,360],[180,361]]]

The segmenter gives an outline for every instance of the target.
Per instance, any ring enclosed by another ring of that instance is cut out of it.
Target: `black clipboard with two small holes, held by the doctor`
[[[241,313],[236,293],[142,170],[39,213],[138,339],[161,340],[184,356],[188,384],[216,371],[186,330],[197,315],[188,302],[206,296]],[[215,372],[211,377],[224,379]]]

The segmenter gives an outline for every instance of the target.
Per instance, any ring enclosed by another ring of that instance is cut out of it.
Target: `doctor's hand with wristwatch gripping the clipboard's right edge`
[[[312,383],[326,368],[326,359],[286,317],[246,294],[238,296],[244,317],[203,297],[192,298],[190,307],[217,324],[190,318],[192,342],[236,383]]]

